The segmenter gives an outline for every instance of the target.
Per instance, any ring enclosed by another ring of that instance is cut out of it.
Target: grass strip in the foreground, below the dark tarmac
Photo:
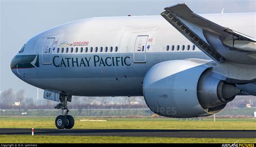
[[[68,138],[68,139],[65,139]],[[0,135],[1,143],[256,143],[255,138]]]

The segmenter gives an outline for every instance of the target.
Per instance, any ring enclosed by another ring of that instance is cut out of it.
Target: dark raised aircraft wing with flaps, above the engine
[[[256,64],[254,38],[199,16],[186,4],[167,7],[161,16],[213,60]]]

